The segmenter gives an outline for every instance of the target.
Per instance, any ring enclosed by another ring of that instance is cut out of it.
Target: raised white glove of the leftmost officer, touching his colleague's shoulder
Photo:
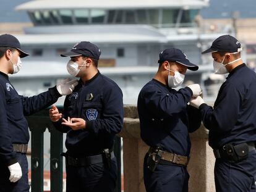
[[[61,95],[71,94],[74,90],[75,86],[78,85],[78,80],[71,80],[69,81],[68,78],[62,80],[60,83],[57,84],[57,90]]]

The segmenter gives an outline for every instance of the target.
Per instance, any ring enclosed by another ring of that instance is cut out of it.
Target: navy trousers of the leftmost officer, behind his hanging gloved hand
[[[22,177],[15,183],[10,182],[10,171],[7,165],[0,162],[0,192],[28,192],[28,161],[26,154],[17,152],[17,159],[22,167]]]

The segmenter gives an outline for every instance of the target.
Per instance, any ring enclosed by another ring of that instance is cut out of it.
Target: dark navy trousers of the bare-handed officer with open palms
[[[113,192],[116,188],[117,163],[112,159],[111,169],[103,163],[87,167],[66,165],[66,192]]]

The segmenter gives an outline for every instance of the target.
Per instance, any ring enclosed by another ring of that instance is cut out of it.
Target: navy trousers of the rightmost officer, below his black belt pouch
[[[214,173],[216,192],[255,192],[256,151],[238,163],[216,159]]]

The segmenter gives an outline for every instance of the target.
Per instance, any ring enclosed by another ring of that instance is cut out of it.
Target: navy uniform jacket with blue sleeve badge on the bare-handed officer
[[[85,84],[80,79],[73,93],[66,96],[63,115],[65,119],[82,118],[87,123],[85,129],[75,131],[61,125],[61,120],[54,123],[59,131],[67,133],[67,153],[76,157],[100,154],[113,147],[114,135],[122,129],[122,91],[100,72]]]

